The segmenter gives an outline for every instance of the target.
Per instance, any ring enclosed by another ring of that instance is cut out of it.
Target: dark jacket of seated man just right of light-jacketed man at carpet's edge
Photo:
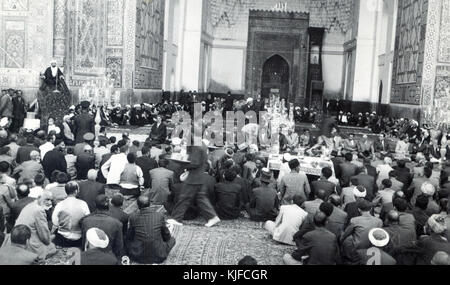
[[[338,247],[336,236],[325,228],[316,228],[308,232],[297,244],[298,248],[292,257],[301,260],[309,256],[308,265],[335,265],[337,263]]]

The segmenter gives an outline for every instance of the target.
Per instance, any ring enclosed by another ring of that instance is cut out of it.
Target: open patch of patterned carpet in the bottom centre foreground
[[[246,255],[260,265],[282,265],[283,255],[294,249],[274,242],[261,225],[250,221],[224,221],[211,229],[201,225],[175,228],[177,244],[165,265],[237,265]]]

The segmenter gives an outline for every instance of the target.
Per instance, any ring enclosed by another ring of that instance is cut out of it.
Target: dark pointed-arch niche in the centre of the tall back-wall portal
[[[289,64],[276,54],[263,65],[261,96],[269,98],[271,94],[279,95],[280,99],[289,101]]]

